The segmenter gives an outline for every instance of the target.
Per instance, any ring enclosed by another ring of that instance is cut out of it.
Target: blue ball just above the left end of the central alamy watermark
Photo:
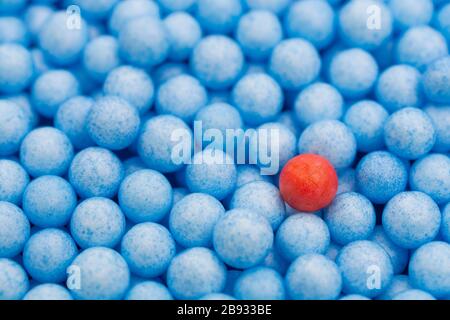
[[[179,75],[164,82],[156,95],[156,112],[171,114],[190,123],[208,103],[208,93],[201,83],[189,75]]]

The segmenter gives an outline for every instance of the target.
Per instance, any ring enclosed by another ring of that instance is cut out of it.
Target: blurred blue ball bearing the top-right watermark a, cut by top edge
[[[365,50],[378,48],[393,29],[391,11],[378,0],[351,0],[341,8],[338,20],[341,39]]]

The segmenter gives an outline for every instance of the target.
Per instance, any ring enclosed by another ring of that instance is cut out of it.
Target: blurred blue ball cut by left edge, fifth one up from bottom
[[[18,44],[0,45],[0,92],[19,93],[31,82],[33,60],[30,52]]]

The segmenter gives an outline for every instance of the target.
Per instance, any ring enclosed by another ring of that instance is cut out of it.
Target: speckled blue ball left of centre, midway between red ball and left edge
[[[173,192],[166,177],[145,169],[128,175],[122,181],[118,199],[132,222],[159,222],[172,208]]]

